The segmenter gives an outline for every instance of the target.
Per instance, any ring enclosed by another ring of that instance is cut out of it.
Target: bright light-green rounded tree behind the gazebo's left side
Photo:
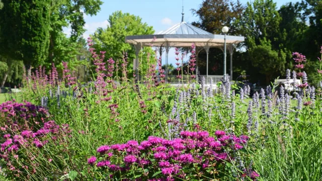
[[[106,51],[107,58],[112,57],[114,60],[122,60],[123,51],[128,55],[128,70],[132,71],[133,59],[135,58],[135,49],[132,45],[125,43],[125,37],[129,35],[149,35],[154,30],[151,26],[142,22],[138,16],[114,12],[109,17],[109,26],[106,29],[99,28],[93,35],[95,48],[97,51]],[[140,68],[143,74],[147,68],[147,53],[150,53],[150,60],[154,61],[154,52],[150,47],[143,47],[140,57]],[[142,66],[141,66],[142,65]],[[129,73],[131,75],[131,73]]]

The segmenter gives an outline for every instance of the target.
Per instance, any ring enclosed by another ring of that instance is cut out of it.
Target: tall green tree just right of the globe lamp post
[[[241,19],[246,35],[245,47],[249,55],[246,60],[251,61],[255,67],[251,69],[256,71],[253,75],[265,74],[266,84],[285,71],[287,50],[281,43],[285,39],[285,35],[279,31],[281,21],[273,0],[255,0],[253,4],[248,3]],[[258,72],[259,69],[262,71]]]

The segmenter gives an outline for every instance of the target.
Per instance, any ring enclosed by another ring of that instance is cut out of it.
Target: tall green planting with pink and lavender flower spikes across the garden
[[[72,132],[64,138],[64,148],[52,146],[43,156],[39,155],[37,177],[22,170],[24,177],[14,179],[42,180],[46,176],[56,180],[63,176],[62,179],[70,180],[108,180],[106,175],[112,174],[111,170],[98,167],[97,163],[88,164],[88,158],[97,155],[96,149],[101,145],[129,140],[140,143],[149,136],[174,140],[181,137],[182,131],[204,130],[214,135],[216,130],[224,130],[228,135],[250,137],[241,150],[245,154],[234,154],[223,167],[210,170],[214,174],[207,179],[225,175],[220,180],[321,180],[321,87],[307,85],[303,72],[297,70],[301,76],[301,84],[294,85],[301,87],[298,93],[291,94],[272,84],[251,96],[249,86],[227,80],[218,82],[218,88],[214,88],[215,84],[205,85],[202,78],[200,83],[190,79],[186,87],[165,84],[163,76],[158,77],[162,72],[157,74],[156,66],[152,66],[156,60],[149,61],[144,81],[128,79],[126,57],[116,66],[112,59],[105,64],[105,52],[98,55],[93,49],[90,51],[96,66],[92,82],[77,82],[66,63],[63,79],[58,78],[54,67],[50,76],[38,69],[38,73],[25,79],[23,99],[47,109],[51,120],[58,125],[68,124]],[[295,56],[297,63],[303,63],[303,57]],[[193,67],[194,57],[191,60]],[[114,81],[114,67],[122,70],[118,82]],[[293,81],[290,75],[286,78]],[[0,119],[6,124],[7,118]],[[31,150],[20,154],[28,151]],[[60,165],[48,162],[48,156],[58,156],[55,161]],[[55,168],[57,176],[46,170],[47,164]],[[260,177],[241,174],[251,169]],[[157,170],[161,171],[153,168]],[[180,177],[181,180],[197,180],[200,175],[196,175],[201,174],[183,171],[187,177]]]

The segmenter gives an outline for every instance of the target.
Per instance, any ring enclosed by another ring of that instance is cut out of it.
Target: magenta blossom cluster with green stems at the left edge
[[[46,144],[50,147],[66,144],[65,138],[70,136],[71,129],[67,124],[57,125],[54,121],[47,121],[47,117],[41,117],[47,113],[41,107],[27,102],[6,102],[0,105],[0,110],[0,120],[4,120],[0,130],[0,158],[4,160],[1,166],[6,168],[9,177],[36,174],[40,163],[34,160],[38,156],[46,157],[40,150]],[[53,161],[51,156],[49,162]]]

